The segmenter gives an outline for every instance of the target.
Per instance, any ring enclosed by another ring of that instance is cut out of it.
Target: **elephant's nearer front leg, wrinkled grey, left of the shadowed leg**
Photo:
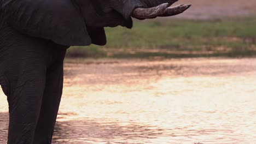
[[[21,57],[19,52],[14,52],[16,57],[8,62],[5,75],[8,79],[9,144],[33,142],[45,88],[47,57],[36,51],[26,49],[20,52]]]

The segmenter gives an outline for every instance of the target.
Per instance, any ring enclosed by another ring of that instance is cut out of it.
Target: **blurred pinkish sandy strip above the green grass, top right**
[[[207,20],[256,15],[255,0],[180,0],[175,5],[185,3],[191,3],[193,6],[185,13],[174,17]]]

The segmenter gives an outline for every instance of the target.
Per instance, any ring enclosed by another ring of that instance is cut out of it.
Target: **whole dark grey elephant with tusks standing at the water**
[[[105,45],[105,27],[173,16],[178,0],[0,0],[0,85],[8,143],[51,143],[70,46]]]

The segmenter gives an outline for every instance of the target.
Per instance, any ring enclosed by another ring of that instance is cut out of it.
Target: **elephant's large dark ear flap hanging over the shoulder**
[[[21,33],[57,44],[86,46],[91,38],[71,0],[18,0],[5,5],[8,25]]]

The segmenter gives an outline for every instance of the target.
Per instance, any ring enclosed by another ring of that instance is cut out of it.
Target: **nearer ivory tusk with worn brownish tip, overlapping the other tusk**
[[[163,3],[153,8],[136,8],[132,12],[132,17],[138,19],[148,19],[153,18],[158,15],[162,15],[165,13],[165,9],[168,8],[168,3]]]

